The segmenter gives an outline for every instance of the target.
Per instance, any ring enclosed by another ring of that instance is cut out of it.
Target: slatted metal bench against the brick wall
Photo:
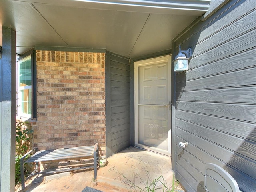
[[[33,154],[34,153],[34,154]],[[31,157],[26,159],[28,155],[33,154]],[[40,162],[68,162],[70,159],[77,158],[89,158],[88,160],[93,159],[93,163],[89,163],[88,166],[77,167],[77,168],[64,168],[60,170],[52,170],[42,172],[40,171],[39,163]],[[70,148],[61,148],[56,150],[42,150],[37,151],[36,149],[27,152],[20,159],[20,172],[21,172],[21,187],[25,188],[25,181],[32,175],[35,174],[49,174],[55,172],[66,172],[71,170],[85,169],[85,168],[94,168],[94,179],[97,179],[97,159],[98,158],[98,143],[92,146],[82,146],[82,147],[70,147]],[[25,160],[26,159],[26,160]],[[36,169],[25,179],[24,175],[24,164],[25,163],[36,163]]]

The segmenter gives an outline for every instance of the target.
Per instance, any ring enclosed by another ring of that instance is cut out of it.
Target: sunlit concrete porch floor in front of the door
[[[160,176],[163,176],[164,180],[160,180],[165,181],[166,186],[172,184],[170,157],[130,147],[107,160],[107,165],[98,169],[97,180],[93,179],[92,170],[37,175],[28,180],[25,190],[17,187],[16,192],[82,192],[86,186],[103,192],[127,192],[134,191],[131,188],[134,184],[143,189],[145,182]]]

